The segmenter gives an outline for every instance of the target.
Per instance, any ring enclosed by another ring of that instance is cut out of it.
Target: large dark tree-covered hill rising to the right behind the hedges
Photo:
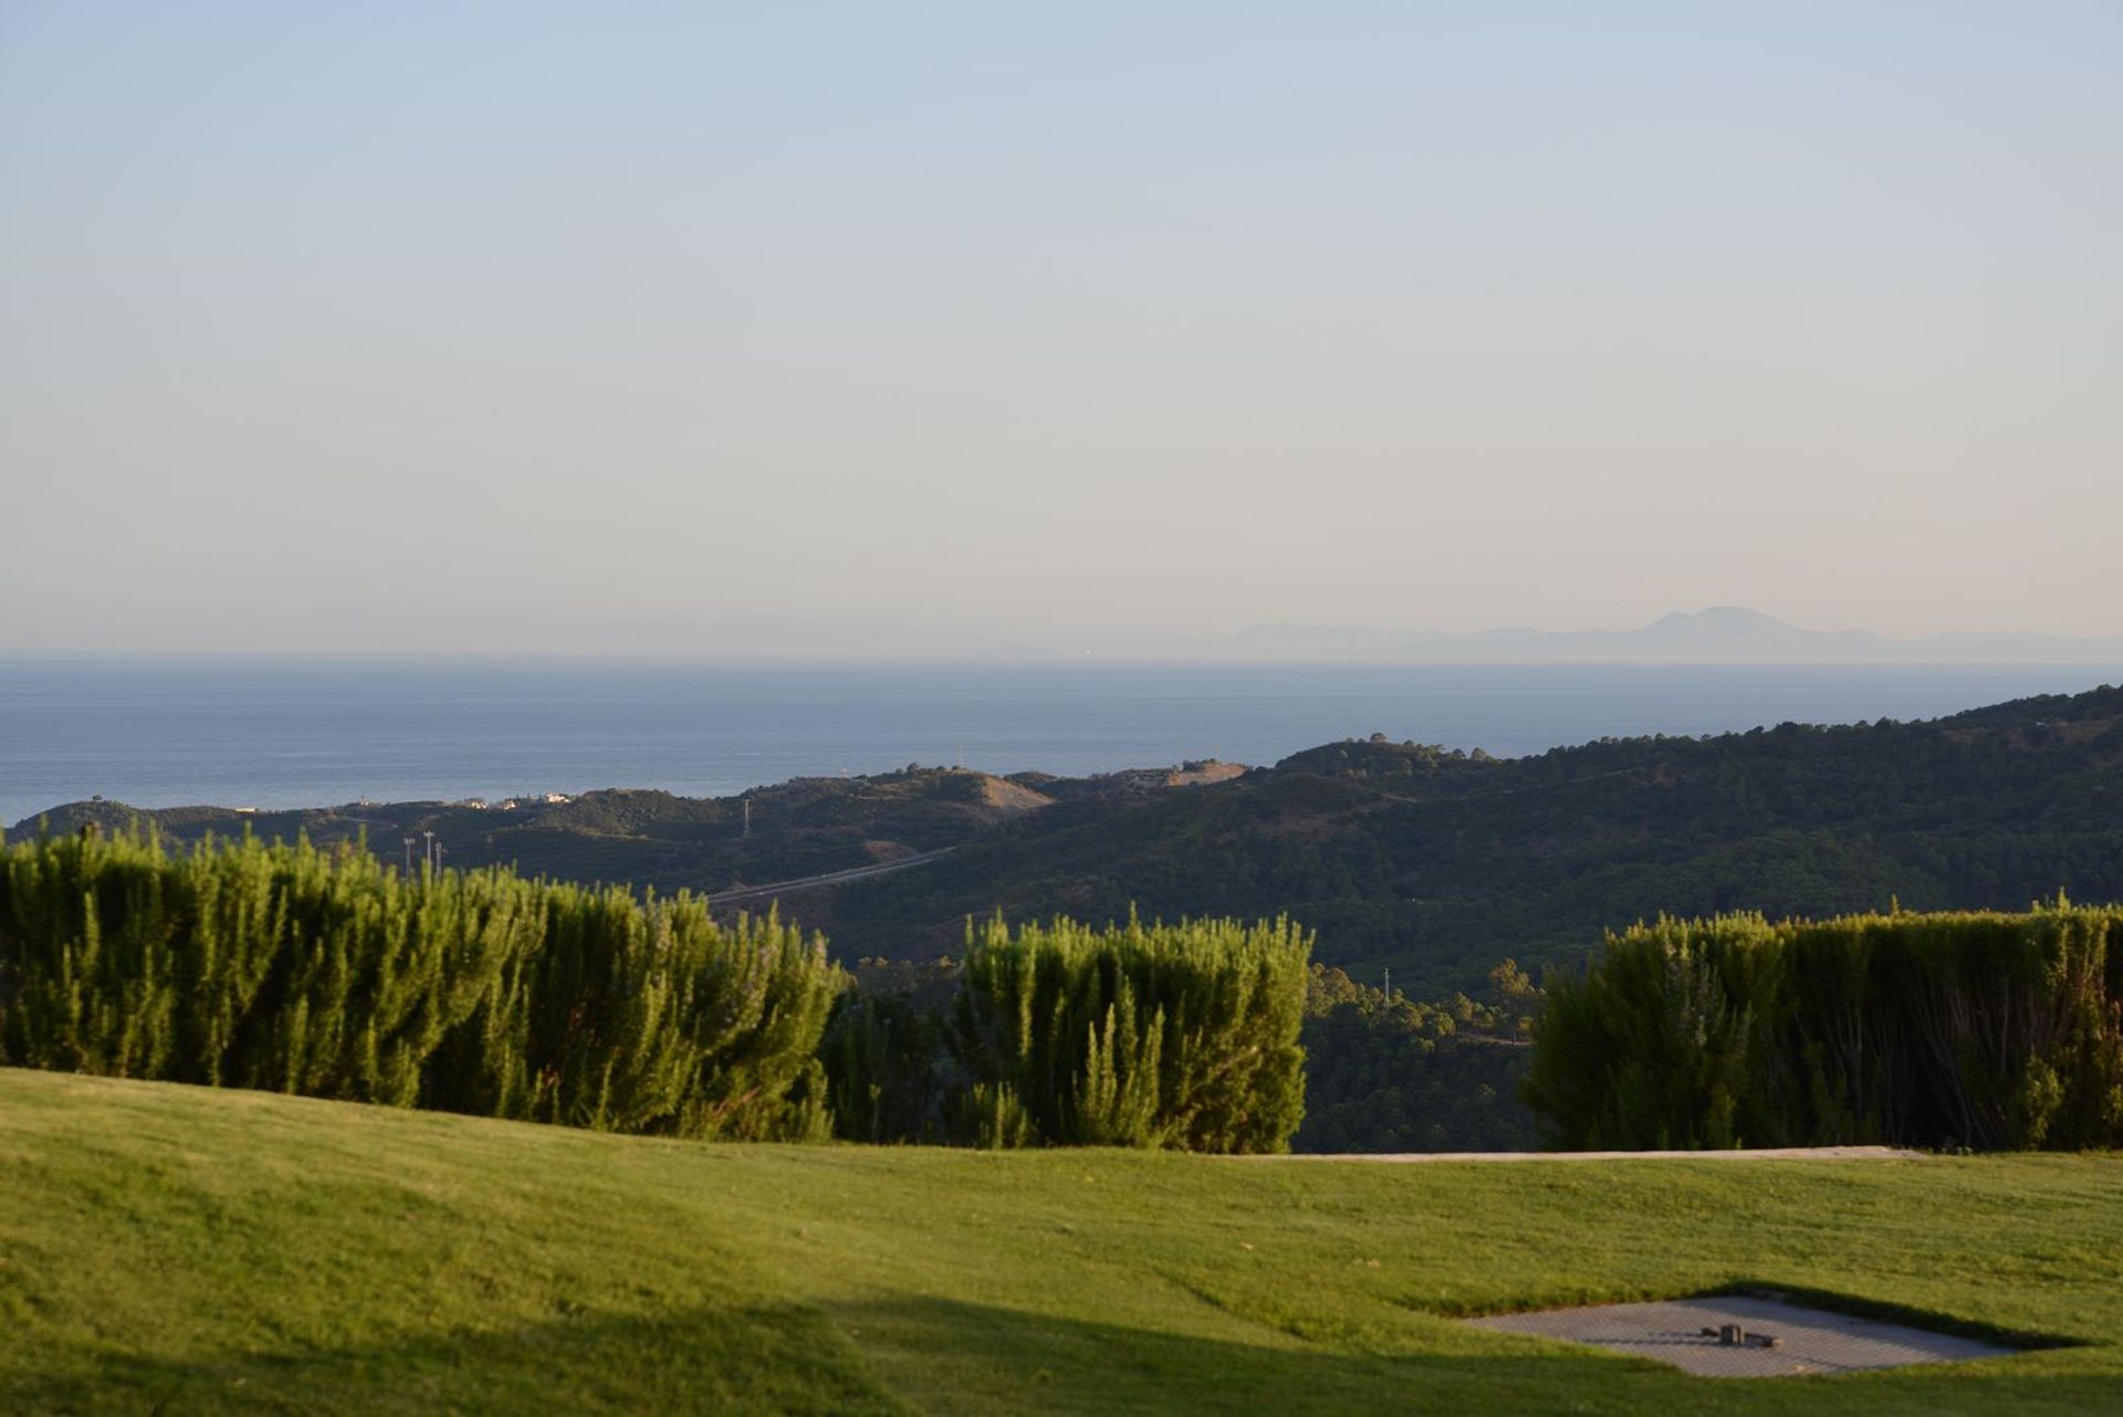
[[[947,952],[994,910],[1289,910],[1418,993],[1677,914],[2123,899],[2123,689],[1930,723],[1628,738],[1526,759],[1350,740],[1185,791],[1066,800],[841,891],[834,938]]]

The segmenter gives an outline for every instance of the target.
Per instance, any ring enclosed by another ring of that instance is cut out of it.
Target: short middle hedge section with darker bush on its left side
[[[1287,921],[968,929],[945,969],[864,961],[824,1044],[864,1141],[1280,1152],[1304,1114],[1306,963]],[[936,989],[947,980],[947,993]]]

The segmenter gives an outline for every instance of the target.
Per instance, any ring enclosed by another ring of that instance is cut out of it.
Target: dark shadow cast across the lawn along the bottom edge
[[[1051,1319],[926,1296],[575,1313],[482,1332],[197,1362],[76,1353],[6,1413],[2085,1413],[2123,1372],[2030,1358],[1834,1379],[1694,1379],[1647,1360],[1473,1334],[1352,1353]]]

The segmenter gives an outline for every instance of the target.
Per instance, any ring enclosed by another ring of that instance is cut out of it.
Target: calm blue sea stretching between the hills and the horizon
[[[318,806],[590,787],[730,793],[909,762],[1272,764],[1382,732],[1497,755],[1919,719],[2123,668],[705,666],[0,660],[0,823],[91,793]]]

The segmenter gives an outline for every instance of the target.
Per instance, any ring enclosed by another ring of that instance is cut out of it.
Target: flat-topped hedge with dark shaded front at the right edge
[[[2123,910],[1660,919],[1550,980],[1565,1148],[2123,1145]]]

